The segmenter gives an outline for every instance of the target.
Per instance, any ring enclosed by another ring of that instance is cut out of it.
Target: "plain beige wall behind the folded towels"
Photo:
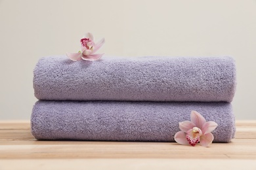
[[[109,56],[233,56],[236,118],[256,119],[256,1],[0,0],[0,120],[30,118],[35,63],[87,31]]]

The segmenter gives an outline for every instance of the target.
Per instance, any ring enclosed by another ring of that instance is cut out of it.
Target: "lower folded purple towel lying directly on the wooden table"
[[[39,140],[174,141],[179,122],[196,110],[218,126],[213,142],[228,143],[236,131],[230,103],[37,101],[32,134]]]

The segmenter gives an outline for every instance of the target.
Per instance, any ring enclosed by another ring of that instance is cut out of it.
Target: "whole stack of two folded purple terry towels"
[[[218,124],[213,142],[230,142],[235,122],[234,59],[41,58],[33,88],[32,134],[39,140],[174,141],[191,110]]]

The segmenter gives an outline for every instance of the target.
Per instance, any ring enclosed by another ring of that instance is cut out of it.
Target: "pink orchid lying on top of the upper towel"
[[[80,59],[94,61],[100,59],[103,54],[94,54],[105,42],[104,39],[101,39],[98,43],[95,44],[93,41],[93,35],[91,33],[87,33],[81,42],[81,51],[77,53],[68,53],[67,56],[73,61],[78,61]]]

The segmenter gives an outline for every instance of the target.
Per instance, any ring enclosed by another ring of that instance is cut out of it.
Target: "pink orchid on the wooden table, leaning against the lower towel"
[[[213,131],[218,124],[213,121],[206,122],[205,118],[196,111],[190,114],[191,122],[186,120],[179,123],[181,131],[175,134],[175,141],[179,144],[195,146],[200,142],[202,146],[209,146],[213,142]]]

